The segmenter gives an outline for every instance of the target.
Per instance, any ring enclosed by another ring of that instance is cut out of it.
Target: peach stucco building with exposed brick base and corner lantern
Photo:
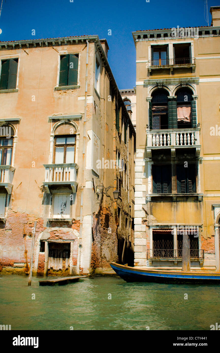
[[[34,274],[133,263],[135,130],[108,49],[98,36],[0,42],[3,271],[28,272],[35,220]]]

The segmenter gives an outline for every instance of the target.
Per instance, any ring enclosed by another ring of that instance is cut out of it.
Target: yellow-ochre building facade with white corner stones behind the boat
[[[135,266],[220,270],[220,7],[212,25],[133,32]],[[189,228],[190,227],[190,228]]]

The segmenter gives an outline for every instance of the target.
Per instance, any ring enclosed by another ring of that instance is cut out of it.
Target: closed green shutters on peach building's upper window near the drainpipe
[[[76,86],[78,83],[79,54],[60,55],[59,86]]]

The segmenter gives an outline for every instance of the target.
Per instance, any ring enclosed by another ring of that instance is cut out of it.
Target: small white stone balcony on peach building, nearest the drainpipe
[[[46,192],[50,193],[50,186],[68,185],[73,192],[77,191],[77,170],[76,163],[43,164],[45,167],[45,178],[43,185]]]

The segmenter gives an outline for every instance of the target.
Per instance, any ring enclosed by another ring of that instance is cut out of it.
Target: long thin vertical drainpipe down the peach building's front
[[[85,169],[85,132],[86,132],[86,108],[87,108],[87,86],[88,86],[88,65],[89,65],[89,41],[87,43],[86,53],[86,73],[85,73],[85,112],[83,121],[83,162],[82,162],[82,177],[81,177],[81,204],[80,204],[80,228],[79,228],[79,258],[77,261],[77,272],[79,273],[81,263],[81,247],[82,247],[82,231],[83,231],[83,183]]]

